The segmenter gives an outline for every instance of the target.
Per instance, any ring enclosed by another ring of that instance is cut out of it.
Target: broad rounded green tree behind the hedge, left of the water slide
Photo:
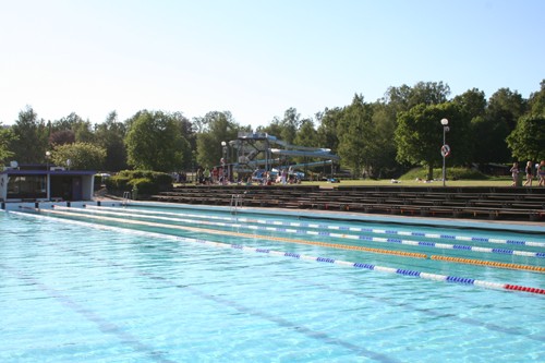
[[[164,172],[180,170],[189,147],[171,114],[147,110],[134,116],[125,145],[129,165]]]

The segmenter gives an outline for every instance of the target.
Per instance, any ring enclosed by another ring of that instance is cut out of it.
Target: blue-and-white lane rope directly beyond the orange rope
[[[57,207],[57,209],[73,210],[71,208],[65,208],[65,207]],[[186,222],[186,223],[194,223],[195,222],[195,220],[193,220],[193,219],[185,219],[185,218],[142,216],[138,214],[132,214],[132,213],[126,213],[126,211],[120,213],[119,209],[118,209],[118,211],[113,211],[113,210],[100,210],[99,208],[97,208],[97,209],[93,208],[90,211],[97,213],[97,214],[129,216],[129,217],[134,217],[134,218],[149,218],[149,219],[157,219],[157,220],[181,221],[181,222]],[[239,219],[239,221],[241,221],[241,219]],[[332,232],[328,232],[328,231],[299,230],[299,229],[278,228],[278,227],[268,227],[268,226],[266,226],[266,227],[249,226],[249,225],[243,225],[243,223],[214,222],[214,221],[205,221],[205,220],[199,220],[198,222],[202,225],[207,225],[207,226],[228,227],[228,228],[244,228],[244,229],[250,229],[250,230],[264,230],[264,231],[282,232],[282,233],[320,235],[320,237],[330,237],[330,238],[336,238],[336,239],[349,239],[349,240],[360,240],[360,241],[367,241],[367,242],[393,243],[393,244],[421,246],[421,247],[429,247],[429,249],[463,250],[463,251],[471,251],[471,252],[477,252],[477,253],[492,253],[492,254],[514,255],[514,256],[536,257],[536,258],[544,258],[545,257],[545,253],[543,253],[543,252],[517,251],[517,250],[508,250],[508,249],[491,249],[491,247],[470,246],[470,245],[461,245],[461,244],[412,241],[412,240],[401,240],[401,239],[395,239],[395,238],[379,238],[379,237],[367,237],[367,235],[359,235],[359,234],[332,233]],[[267,223],[267,225],[269,225],[269,223]],[[316,226],[322,226],[324,228],[327,227],[327,225],[316,225]]]

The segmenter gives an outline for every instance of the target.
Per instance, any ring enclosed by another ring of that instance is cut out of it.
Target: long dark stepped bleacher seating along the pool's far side
[[[341,210],[423,217],[545,220],[543,187],[185,185],[153,195],[170,203]]]

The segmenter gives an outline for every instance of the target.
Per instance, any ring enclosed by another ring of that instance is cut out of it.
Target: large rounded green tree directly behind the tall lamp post
[[[447,141],[452,148],[451,162],[467,162],[471,145],[467,137],[470,128],[469,116],[453,102],[432,106],[421,104],[398,116],[395,134],[398,161],[426,165],[427,178],[433,179],[433,168],[443,160],[440,146],[444,130],[439,121],[444,118],[449,120]]]

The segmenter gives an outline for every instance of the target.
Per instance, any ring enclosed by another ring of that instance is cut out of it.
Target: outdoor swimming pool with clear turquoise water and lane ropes
[[[143,205],[0,223],[0,362],[545,361],[543,233]]]

